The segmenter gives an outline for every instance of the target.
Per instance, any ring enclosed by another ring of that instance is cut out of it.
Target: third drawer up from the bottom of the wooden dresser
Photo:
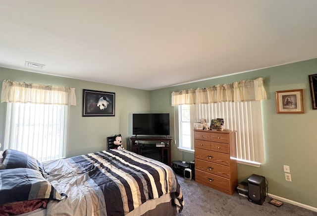
[[[195,159],[200,159],[208,162],[215,162],[223,165],[230,165],[230,155],[211,152],[203,149],[195,149]]]

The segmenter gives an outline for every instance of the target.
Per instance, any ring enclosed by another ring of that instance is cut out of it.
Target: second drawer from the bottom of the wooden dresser
[[[195,160],[195,168],[202,171],[220,175],[225,178],[230,178],[230,167],[225,165],[220,165],[213,162],[202,161],[199,159]]]

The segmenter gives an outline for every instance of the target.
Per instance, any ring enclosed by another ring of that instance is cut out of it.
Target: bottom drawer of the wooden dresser
[[[213,175],[211,173],[195,169],[195,179],[198,181],[202,181],[208,185],[216,186],[230,191],[230,180],[228,178],[223,178],[218,175]]]

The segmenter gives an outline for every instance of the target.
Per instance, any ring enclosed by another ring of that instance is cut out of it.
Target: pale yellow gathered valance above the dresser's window
[[[172,92],[172,106],[266,100],[264,78]]]

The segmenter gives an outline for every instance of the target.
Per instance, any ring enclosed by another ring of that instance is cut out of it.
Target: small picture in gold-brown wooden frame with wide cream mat
[[[303,89],[278,91],[275,94],[277,113],[304,113]]]

